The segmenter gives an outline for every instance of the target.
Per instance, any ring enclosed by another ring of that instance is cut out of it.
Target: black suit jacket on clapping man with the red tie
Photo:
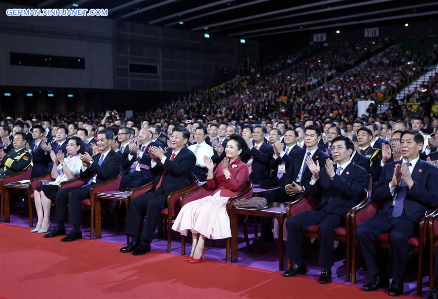
[[[152,175],[157,177],[157,183],[163,175],[164,170],[166,170],[161,183],[163,192],[169,194],[189,186],[194,177],[193,169],[196,165],[195,154],[186,147],[183,147],[173,161],[170,161],[172,149],[168,149],[164,155],[167,157],[164,164],[161,163],[161,160],[157,160],[157,165],[150,169]]]

